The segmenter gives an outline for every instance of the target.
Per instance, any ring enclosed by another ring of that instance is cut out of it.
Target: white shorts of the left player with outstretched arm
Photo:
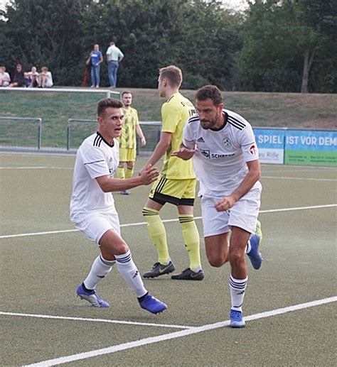
[[[95,213],[92,212],[83,217],[80,221],[74,221],[73,224],[88,239],[97,243],[100,242],[103,234],[109,229],[113,229],[119,235],[121,234],[119,226],[119,217],[117,212]]]

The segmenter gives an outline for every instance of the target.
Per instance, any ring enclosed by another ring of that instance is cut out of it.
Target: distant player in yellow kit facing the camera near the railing
[[[136,160],[137,140],[136,133],[141,139],[141,146],[146,145],[146,139],[139,126],[137,109],[132,104],[132,93],[128,90],[122,92],[122,102],[124,104],[124,124],[122,135],[119,141],[119,165],[117,175],[119,178],[130,178],[134,175],[134,162]],[[129,190],[123,190],[122,195],[129,195]]]

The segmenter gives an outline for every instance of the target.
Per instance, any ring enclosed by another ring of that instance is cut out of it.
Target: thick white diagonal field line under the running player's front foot
[[[315,307],[319,305],[325,305],[327,303],[336,302],[337,297],[330,297],[324,298],[323,300],[316,300],[312,302],[301,303],[299,305],[279,308],[277,310],[261,312],[260,314],[251,314],[250,316],[245,317],[246,321],[252,321],[257,319],[263,319],[265,317],[272,317],[279,314],[286,314],[287,312],[297,311],[297,310],[304,310],[309,307]],[[149,338],[144,338],[136,341],[129,341],[127,343],[118,344],[114,346],[108,346],[107,348],[103,349],[96,349],[93,351],[87,351],[84,353],[73,354],[72,356],[64,356],[60,358],[53,358],[48,359],[46,361],[41,361],[38,363],[28,364],[25,365],[26,367],[33,367],[33,366],[55,366],[62,363],[69,363],[72,361],[80,361],[82,359],[91,358],[102,356],[105,354],[112,354],[117,351],[124,351],[126,349],[136,348],[137,346],[144,346],[148,344],[158,343],[159,341],[166,341],[170,339],[177,339],[183,336],[198,334],[201,332],[207,332],[208,330],[218,329],[220,327],[227,327],[230,324],[230,321],[223,321],[223,322],[215,322],[214,324],[206,324],[200,327],[192,327],[191,329],[181,330],[180,332],[172,332],[169,334],[163,334],[159,336],[153,336]]]

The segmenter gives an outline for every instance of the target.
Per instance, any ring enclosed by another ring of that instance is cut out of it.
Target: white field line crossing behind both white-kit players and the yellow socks
[[[294,208],[282,208],[282,209],[268,209],[268,210],[261,210],[260,214],[263,213],[276,213],[276,212],[291,212],[293,210],[308,210],[308,209],[322,209],[322,208],[329,208],[329,207],[337,207],[337,204],[326,204],[326,205],[314,205],[311,207],[294,207]],[[201,217],[194,217],[194,219],[201,219]],[[178,219],[164,219],[164,223],[168,223],[170,221],[178,221]],[[121,227],[129,227],[129,226],[144,226],[146,225],[146,221],[139,221],[138,223],[128,223],[128,224],[121,224]],[[26,234],[6,234],[4,236],[0,236],[0,239],[11,239],[14,237],[25,237],[25,236],[40,236],[43,234],[61,234],[61,233],[69,233],[69,232],[77,232],[78,229],[63,229],[60,231],[45,231],[45,232],[33,232],[33,233],[26,233]]]

